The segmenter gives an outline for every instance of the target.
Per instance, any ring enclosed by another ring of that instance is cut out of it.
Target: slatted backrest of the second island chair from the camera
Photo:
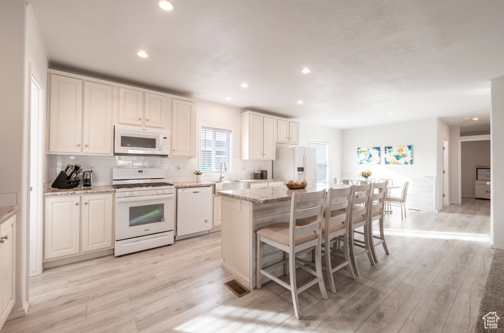
[[[324,223],[326,223],[326,232],[328,232],[327,230],[331,230],[331,225],[336,223],[343,223],[345,228],[348,228],[348,218],[352,207],[352,199],[353,186],[344,189],[329,188],[327,190],[325,207],[326,218],[324,219]],[[334,211],[344,211],[345,213],[333,216],[332,212]]]

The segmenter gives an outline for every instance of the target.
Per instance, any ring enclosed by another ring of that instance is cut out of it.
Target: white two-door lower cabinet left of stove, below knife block
[[[112,194],[47,197],[44,261],[111,248],[112,204]]]

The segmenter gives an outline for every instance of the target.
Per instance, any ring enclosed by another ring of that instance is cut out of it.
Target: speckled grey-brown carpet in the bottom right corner
[[[495,314],[490,312],[495,312]],[[486,319],[482,318],[487,314],[487,328],[485,328]],[[498,319],[494,318],[494,315]],[[492,320],[495,319],[497,328],[490,328],[494,322]],[[493,250],[492,264],[486,279],[483,298],[481,298],[475,332],[504,332],[504,250]]]

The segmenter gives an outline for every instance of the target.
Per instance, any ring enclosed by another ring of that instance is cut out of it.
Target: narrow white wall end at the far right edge
[[[504,77],[494,79],[490,82],[491,87],[491,160],[492,181],[491,181],[491,206],[490,206],[490,239],[492,247],[504,248],[504,205],[499,204],[499,200],[504,198],[504,175],[497,170],[502,170],[504,165]]]

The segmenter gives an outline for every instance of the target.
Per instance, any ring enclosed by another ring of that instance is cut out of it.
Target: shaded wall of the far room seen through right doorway
[[[461,142],[462,196],[474,197],[476,166],[490,166],[490,140]]]

